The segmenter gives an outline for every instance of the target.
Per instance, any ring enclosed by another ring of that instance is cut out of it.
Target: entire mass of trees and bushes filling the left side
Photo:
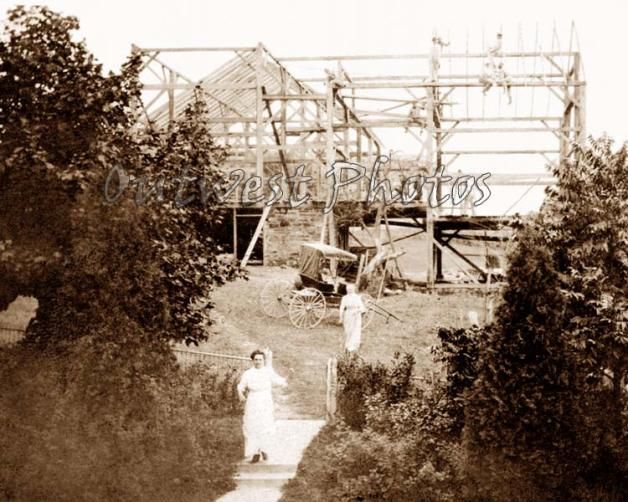
[[[233,375],[181,373],[170,342],[207,336],[211,289],[237,267],[206,238],[214,196],[147,191],[185,166],[218,179],[224,152],[199,100],[167,131],[139,126],[139,57],[103,76],[77,29],[16,7],[0,38],[0,308],[39,302],[0,355],[2,497],[218,496],[241,451]],[[136,197],[103,196],[113,168]]]

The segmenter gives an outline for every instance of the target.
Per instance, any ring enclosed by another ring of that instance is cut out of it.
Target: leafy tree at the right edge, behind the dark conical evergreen
[[[608,137],[592,140],[555,171],[545,224],[557,248],[570,344],[590,385],[610,380],[618,419],[628,374],[628,147],[612,147]]]

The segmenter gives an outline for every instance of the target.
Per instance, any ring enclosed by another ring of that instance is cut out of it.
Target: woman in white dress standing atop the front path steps
[[[286,379],[273,370],[271,354],[255,350],[251,354],[253,367],[243,373],[238,383],[240,400],[246,400],[242,421],[244,456],[251,456],[251,463],[259,462],[260,457],[268,460],[275,433],[272,386],[287,385]]]

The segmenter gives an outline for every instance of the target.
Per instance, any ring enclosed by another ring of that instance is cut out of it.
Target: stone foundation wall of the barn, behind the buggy
[[[272,208],[264,225],[264,265],[296,266],[302,241],[318,241],[323,204]]]

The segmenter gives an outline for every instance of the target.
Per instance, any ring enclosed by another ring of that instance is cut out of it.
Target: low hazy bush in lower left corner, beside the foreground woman
[[[233,488],[235,375],[177,370],[143,342],[0,351],[0,498],[207,500]]]

